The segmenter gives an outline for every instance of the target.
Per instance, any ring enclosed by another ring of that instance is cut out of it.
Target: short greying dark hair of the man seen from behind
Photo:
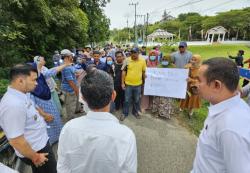
[[[111,76],[98,69],[91,69],[83,78],[81,92],[90,109],[101,109],[111,102],[114,82]]]

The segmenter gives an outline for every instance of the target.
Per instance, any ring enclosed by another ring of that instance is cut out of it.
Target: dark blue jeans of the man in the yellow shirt
[[[126,85],[125,101],[123,106],[123,114],[125,116],[128,116],[129,114],[129,106],[131,101],[133,101],[133,110],[132,110],[133,114],[136,114],[141,110],[140,95],[141,95],[141,85],[139,86]]]

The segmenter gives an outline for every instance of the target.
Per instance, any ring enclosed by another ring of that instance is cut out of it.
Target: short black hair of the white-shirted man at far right
[[[239,70],[231,59],[216,57],[208,59],[202,64],[208,66],[204,74],[208,84],[214,80],[219,80],[229,91],[237,90],[240,79]]]

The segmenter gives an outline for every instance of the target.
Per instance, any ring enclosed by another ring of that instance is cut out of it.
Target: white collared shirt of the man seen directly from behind
[[[108,112],[89,111],[69,121],[58,146],[58,173],[135,173],[134,133]]]

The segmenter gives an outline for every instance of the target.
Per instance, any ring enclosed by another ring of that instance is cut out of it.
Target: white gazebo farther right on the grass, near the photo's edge
[[[208,42],[213,43],[214,42],[214,36],[218,35],[217,42],[223,42],[225,40],[225,35],[226,35],[227,32],[228,31],[223,26],[216,26],[216,27],[213,27],[213,28],[209,29],[207,31],[205,37],[207,38]],[[210,39],[211,35],[212,35],[212,38]],[[221,36],[222,36],[222,38],[221,38]]]

